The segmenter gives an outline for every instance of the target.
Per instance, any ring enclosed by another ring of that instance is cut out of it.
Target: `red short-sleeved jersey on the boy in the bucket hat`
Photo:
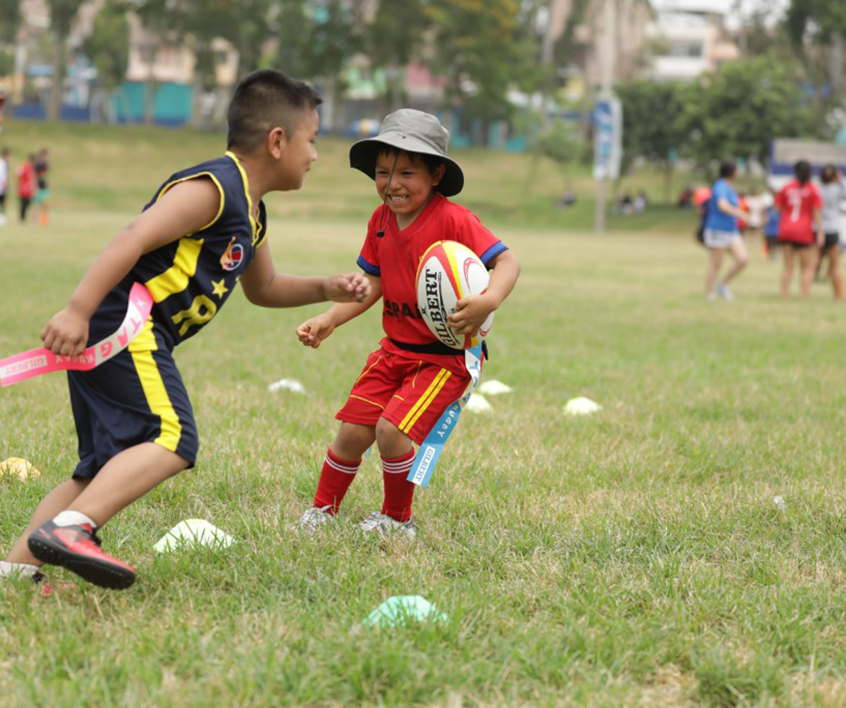
[[[382,237],[376,235],[380,223],[385,232]],[[397,218],[390,207],[379,206],[367,224],[367,237],[358,264],[366,273],[382,278],[382,328],[388,337],[382,340],[382,346],[395,354],[463,373],[463,353],[454,357],[412,353],[390,341],[417,345],[437,342],[420,315],[415,281],[420,258],[436,241],[458,241],[478,255],[485,265],[508,249],[482,226],[479,217],[470,209],[436,192],[415,221],[402,231],[398,230]]]

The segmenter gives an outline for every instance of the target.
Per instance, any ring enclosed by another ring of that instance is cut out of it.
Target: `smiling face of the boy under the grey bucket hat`
[[[380,152],[376,156],[376,191],[380,199],[387,197],[387,206],[397,215],[399,228],[409,226],[420,216],[444,170],[443,165],[438,165],[432,173],[419,155],[411,156],[403,151]]]

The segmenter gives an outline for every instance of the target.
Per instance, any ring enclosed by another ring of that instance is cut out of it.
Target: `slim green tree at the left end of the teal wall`
[[[110,2],[100,8],[82,51],[96,69],[97,87],[111,120],[111,102],[124,82],[129,62],[129,22],[122,4]]]

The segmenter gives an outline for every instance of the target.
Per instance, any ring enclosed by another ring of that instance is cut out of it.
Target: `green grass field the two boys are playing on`
[[[61,143],[33,138],[56,153],[50,228],[0,228],[0,355],[36,346],[161,178],[218,151],[219,136],[107,131],[99,145],[62,130]],[[280,269],[354,261],[353,212],[373,197],[343,152],[330,142],[302,193],[272,196]],[[464,157],[488,190],[468,203],[504,199],[528,166],[503,156],[492,174],[496,155]],[[136,585],[62,571],[51,579],[69,585],[50,598],[0,585],[0,705],[846,704],[843,306],[822,285],[782,302],[757,247],[738,299],[706,302],[689,228],[596,237],[487,216],[523,264],[485,374],[514,392],[462,416],[417,495],[418,541],[356,534],[382,498],[374,456],[337,528],[285,530],[310,502],[377,312],[311,351],[293,331],[319,307],[233,297],[177,351],[197,468],[103,531]],[[283,376],[307,394],[266,390]],[[580,395],[602,411],[565,417]],[[0,458],[43,471],[0,480],[3,552],[74,465],[67,398],[63,376],[0,390]],[[238,543],[153,552],[197,517]],[[416,594],[448,622],[362,625],[388,596]]]

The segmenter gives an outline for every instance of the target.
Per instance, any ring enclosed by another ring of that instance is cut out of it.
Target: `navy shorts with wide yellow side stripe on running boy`
[[[194,411],[152,320],[113,359],[91,371],[69,371],[68,384],[80,445],[74,477],[91,479],[115,455],[141,442],[155,442],[194,466]]]

